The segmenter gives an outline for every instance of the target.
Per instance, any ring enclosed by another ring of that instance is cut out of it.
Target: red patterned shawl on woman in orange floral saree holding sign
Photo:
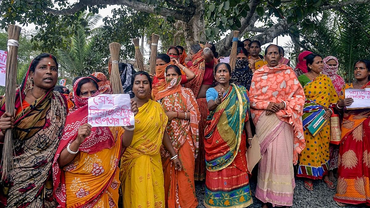
[[[76,94],[78,83],[86,78],[92,79],[91,77],[81,77],[73,85],[75,105],[78,108],[67,115],[62,139],[53,161],[54,197],[61,205],[65,204],[65,187],[63,187],[63,184],[65,184],[65,179],[64,174],[62,174],[62,167],[59,166],[58,158],[67,145],[76,140],[78,128],[87,123],[88,98],[81,98]],[[99,90],[91,97],[94,97],[98,94],[100,94]],[[80,145],[78,151],[94,154],[105,148],[111,148],[114,145],[115,141],[109,127],[92,127],[90,135],[85,138],[85,141]]]

